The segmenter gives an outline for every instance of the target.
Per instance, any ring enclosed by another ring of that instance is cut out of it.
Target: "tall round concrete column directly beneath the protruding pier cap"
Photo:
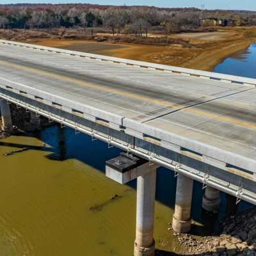
[[[137,178],[136,239],[134,256],[153,256],[156,169]]]

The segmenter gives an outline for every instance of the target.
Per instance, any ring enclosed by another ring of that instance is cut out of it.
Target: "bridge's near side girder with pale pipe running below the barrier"
[[[198,156],[179,154],[157,145],[157,143],[154,143],[155,141],[145,141],[125,134],[122,127],[111,128],[111,124],[102,120],[86,120],[83,116],[79,116],[79,113],[74,115],[74,113],[68,113],[2,88],[0,88],[0,97],[38,113],[38,115],[45,116],[49,120],[72,127],[77,132],[84,132],[92,136],[92,139],[102,140],[108,143],[109,146],[113,145],[121,148],[126,152],[152,161],[152,163],[157,163],[191,179],[198,180],[205,186],[209,185],[212,188],[256,204],[256,186],[253,173],[238,170],[234,167],[227,168],[225,166],[224,168],[224,166],[220,166],[218,168],[211,163],[202,162]]]

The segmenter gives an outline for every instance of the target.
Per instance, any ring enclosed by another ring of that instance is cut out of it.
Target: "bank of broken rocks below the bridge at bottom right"
[[[189,234],[174,233],[186,248],[182,255],[256,256],[256,208],[241,212],[221,224],[223,233],[219,236],[197,239]]]

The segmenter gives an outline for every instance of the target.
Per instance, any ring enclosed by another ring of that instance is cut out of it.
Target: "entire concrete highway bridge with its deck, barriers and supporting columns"
[[[3,129],[10,105],[102,140],[124,154],[106,163],[122,184],[137,179],[134,255],[154,255],[156,169],[175,172],[173,229],[191,227],[193,180],[202,206],[220,191],[256,204],[256,79],[0,40]]]

